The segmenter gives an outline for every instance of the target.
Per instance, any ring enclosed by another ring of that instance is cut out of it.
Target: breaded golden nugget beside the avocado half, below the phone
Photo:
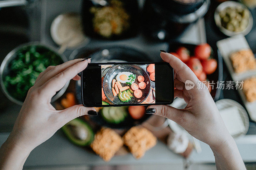
[[[109,161],[123,144],[122,137],[114,130],[102,128],[94,136],[91,148],[95,153],[100,155],[102,159]]]

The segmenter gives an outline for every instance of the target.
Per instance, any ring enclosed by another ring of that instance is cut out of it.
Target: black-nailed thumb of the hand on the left
[[[60,113],[68,122],[83,115],[98,115],[94,107],[84,107],[83,105],[68,107]]]

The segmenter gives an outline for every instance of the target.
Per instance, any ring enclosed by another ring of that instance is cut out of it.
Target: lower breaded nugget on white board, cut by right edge
[[[256,78],[255,77],[244,80],[243,91],[247,101],[253,102],[256,100]]]

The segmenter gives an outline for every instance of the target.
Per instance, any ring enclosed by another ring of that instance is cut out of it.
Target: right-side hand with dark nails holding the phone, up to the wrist
[[[166,105],[152,105],[148,107],[147,111],[149,108],[154,108],[155,113],[153,114],[173,120],[193,137],[211,147],[217,147],[231,139],[232,137],[222,121],[219,110],[206,85],[197,89],[198,82],[201,82],[185,63],[169,53],[161,52],[160,55],[174,69],[174,87],[176,88],[174,97],[184,99],[188,105],[184,109],[176,109]],[[186,80],[195,84],[193,89],[185,89]]]

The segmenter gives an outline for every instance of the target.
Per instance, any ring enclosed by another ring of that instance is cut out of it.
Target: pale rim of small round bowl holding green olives
[[[242,7],[242,8],[245,8],[247,9],[247,7],[241,3],[238,3],[238,2],[234,2],[234,1],[226,1],[226,2],[223,2],[221,3],[215,10],[214,12],[214,20],[215,20],[215,24],[219,27],[220,31],[222,33],[224,33],[225,35],[229,36],[229,37],[232,37],[234,35],[237,35],[237,34],[243,34],[243,35],[247,35],[251,30],[252,30],[252,26],[253,26],[253,18],[252,18],[252,13],[251,11],[250,12],[250,16],[249,16],[249,23],[248,23],[248,26],[243,30],[243,31],[240,31],[240,32],[232,32],[232,31],[229,31],[228,29],[224,28],[222,25],[221,25],[221,18],[220,18],[220,11],[224,10],[225,8],[227,7]]]

